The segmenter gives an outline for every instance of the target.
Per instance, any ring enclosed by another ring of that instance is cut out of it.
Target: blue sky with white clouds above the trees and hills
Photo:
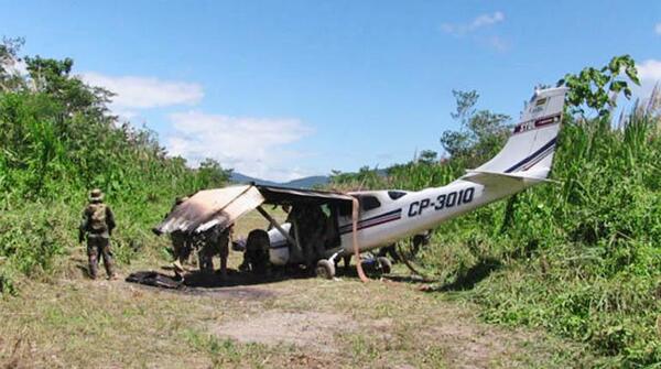
[[[24,54],[75,61],[173,154],[284,181],[384,167],[457,129],[452,89],[518,117],[628,53],[661,79],[661,1],[0,1]]]

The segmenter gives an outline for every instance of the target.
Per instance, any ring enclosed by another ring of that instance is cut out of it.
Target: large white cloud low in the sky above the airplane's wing
[[[197,165],[213,158],[224,167],[272,181],[308,175],[297,164],[303,153],[288,150],[312,133],[297,119],[227,117],[199,111],[170,116],[174,133],[166,139],[170,154]]]

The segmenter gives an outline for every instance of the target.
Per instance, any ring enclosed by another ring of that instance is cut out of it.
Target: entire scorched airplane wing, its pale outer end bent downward
[[[275,186],[240,185],[197,192],[177,205],[154,232],[202,232],[214,226],[225,229],[262,204],[295,205],[347,204],[353,197],[345,194]]]

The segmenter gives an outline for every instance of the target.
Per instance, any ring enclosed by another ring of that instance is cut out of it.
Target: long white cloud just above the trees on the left
[[[117,94],[110,108],[113,111],[148,109],[173,105],[195,105],[204,97],[201,85],[161,80],[153,77],[107,76],[87,72],[80,78],[93,86]]]

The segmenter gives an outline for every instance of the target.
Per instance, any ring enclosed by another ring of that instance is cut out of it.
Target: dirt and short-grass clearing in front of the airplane
[[[151,265],[153,268],[153,265]],[[150,265],[132,265],[131,271]],[[128,275],[129,271],[124,271]],[[166,273],[166,272],[165,272]],[[415,284],[296,279],[183,291],[29,283],[0,301],[0,368],[494,368],[589,362],[582,347],[479,323]]]

